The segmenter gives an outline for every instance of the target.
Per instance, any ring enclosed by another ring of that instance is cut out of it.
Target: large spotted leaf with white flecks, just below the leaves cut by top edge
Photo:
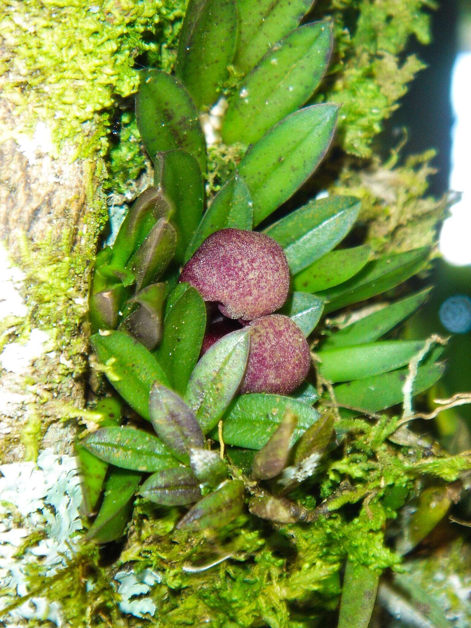
[[[254,144],[299,109],[316,89],[332,50],[332,28],[315,22],[296,28],[261,59],[229,100],[225,144]]]

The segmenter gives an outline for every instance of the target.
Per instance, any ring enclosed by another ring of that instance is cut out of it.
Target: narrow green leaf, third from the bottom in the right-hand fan
[[[355,323],[350,323],[350,325],[329,336],[323,343],[322,349],[350,347],[381,338],[382,335],[413,313],[426,300],[430,290],[430,288],[422,290],[392,305],[387,305],[382,310],[365,316]]]

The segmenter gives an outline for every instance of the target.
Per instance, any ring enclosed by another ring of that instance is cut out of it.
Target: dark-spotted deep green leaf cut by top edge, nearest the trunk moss
[[[237,38],[236,0],[190,0],[178,40],[175,72],[198,109],[217,100]]]

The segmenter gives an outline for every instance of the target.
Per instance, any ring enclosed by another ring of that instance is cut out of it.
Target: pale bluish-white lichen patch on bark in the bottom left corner
[[[78,507],[82,501],[75,458],[44,450],[33,462],[0,465],[0,607],[28,593],[28,565],[41,563],[48,575],[57,573],[74,551],[82,529]],[[18,523],[18,521],[21,521]],[[31,534],[39,541],[21,556],[18,547]],[[41,536],[43,538],[41,538]],[[60,607],[32,597],[14,609],[9,624],[20,619],[48,620],[62,625]]]

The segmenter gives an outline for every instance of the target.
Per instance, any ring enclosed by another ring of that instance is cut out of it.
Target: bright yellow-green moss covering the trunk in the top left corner
[[[48,122],[58,146],[92,123],[88,148],[106,150],[109,111],[116,97],[138,86],[134,59],[143,53],[171,63],[183,0],[2,0],[3,98],[19,117],[16,132]],[[175,33],[173,32],[175,30]],[[144,40],[146,33],[148,38]],[[31,112],[34,112],[31,115]]]

